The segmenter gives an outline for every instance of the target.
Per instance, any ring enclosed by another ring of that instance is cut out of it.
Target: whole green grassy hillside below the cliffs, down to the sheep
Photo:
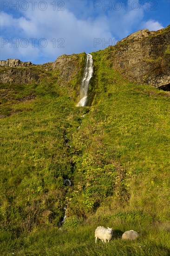
[[[92,53],[88,107],[53,71],[0,86],[2,255],[168,255],[170,94],[125,81],[113,50]],[[98,225],[110,244],[94,244]],[[121,241],[130,229],[140,238]]]

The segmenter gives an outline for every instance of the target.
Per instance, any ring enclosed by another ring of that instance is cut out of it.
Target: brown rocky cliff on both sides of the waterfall
[[[170,90],[170,26],[159,31],[139,30],[108,47],[108,52],[110,67],[127,80]],[[55,71],[59,85],[68,84],[73,90],[80,82],[84,63],[85,54],[63,54],[43,65],[8,59],[0,61],[0,83],[39,82],[44,71]]]

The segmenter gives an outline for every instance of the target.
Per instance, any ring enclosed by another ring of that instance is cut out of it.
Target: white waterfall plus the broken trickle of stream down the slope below
[[[81,82],[81,88],[80,88],[80,101],[78,102],[77,107],[85,107],[88,103],[88,90],[89,90],[89,83],[92,78],[92,75],[93,75],[93,59],[91,54],[87,54],[85,71],[84,71],[83,79]],[[85,117],[85,115],[83,115],[83,117]],[[78,128],[80,128],[80,126]],[[65,179],[64,183],[66,186],[72,186],[72,183],[69,179]],[[67,210],[66,206],[64,210],[65,210],[65,216],[60,222],[61,224],[63,224],[66,219],[66,210]]]

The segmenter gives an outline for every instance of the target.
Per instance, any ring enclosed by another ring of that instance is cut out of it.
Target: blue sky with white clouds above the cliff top
[[[0,60],[42,64],[170,24],[170,0],[1,0]]]

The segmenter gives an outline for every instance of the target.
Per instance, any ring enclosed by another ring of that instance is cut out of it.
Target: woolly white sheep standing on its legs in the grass
[[[103,226],[99,226],[97,227],[97,229],[95,230],[95,237],[96,237],[96,241],[97,241],[97,238],[99,238],[100,240],[102,240],[102,242],[105,242],[106,243],[106,240],[109,241],[111,240],[111,237],[113,235],[113,232],[112,232],[112,228],[105,228]]]

